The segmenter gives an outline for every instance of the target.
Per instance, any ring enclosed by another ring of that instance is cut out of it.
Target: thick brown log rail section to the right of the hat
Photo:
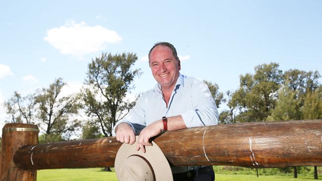
[[[200,127],[165,133],[155,142],[173,165],[322,165],[322,120]]]

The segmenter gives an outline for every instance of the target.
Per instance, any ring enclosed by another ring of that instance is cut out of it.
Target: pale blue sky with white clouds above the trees
[[[0,126],[14,91],[25,96],[62,78],[66,94],[77,92],[102,52],[137,53],[143,74],[131,93],[153,88],[147,55],[164,41],[176,47],[181,74],[223,92],[263,63],[322,73],[322,1],[2,0]]]

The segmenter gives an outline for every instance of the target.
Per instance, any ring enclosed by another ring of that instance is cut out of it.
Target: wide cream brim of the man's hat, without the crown
[[[119,169],[126,159],[131,155],[140,155],[152,166],[156,181],[173,181],[170,165],[159,146],[152,141],[153,146],[146,146],[146,152],[143,153],[141,150],[136,150],[137,142],[138,136],[136,136],[134,144],[123,143],[118,149],[114,163],[117,179],[119,179]]]

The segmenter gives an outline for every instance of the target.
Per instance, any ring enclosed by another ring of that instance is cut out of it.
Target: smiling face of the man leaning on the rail
[[[149,64],[153,77],[161,88],[174,88],[179,77],[180,61],[175,59],[169,47],[156,46],[150,53]]]

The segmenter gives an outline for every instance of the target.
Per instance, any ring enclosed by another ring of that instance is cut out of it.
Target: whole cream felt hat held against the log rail
[[[136,150],[134,144],[123,143],[115,158],[115,173],[119,181],[173,181],[168,161],[159,146],[146,146],[146,152]]]

